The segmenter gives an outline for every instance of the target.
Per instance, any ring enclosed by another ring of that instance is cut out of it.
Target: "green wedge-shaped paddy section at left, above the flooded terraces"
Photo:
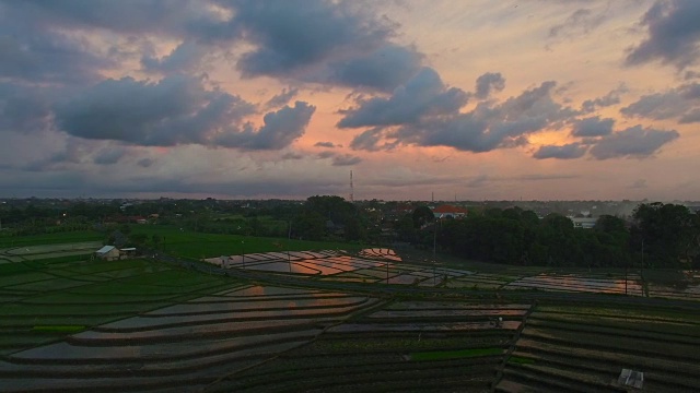
[[[0,265],[0,291],[12,296],[0,303],[0,355],[240,285],[144,259],[43,262]]]

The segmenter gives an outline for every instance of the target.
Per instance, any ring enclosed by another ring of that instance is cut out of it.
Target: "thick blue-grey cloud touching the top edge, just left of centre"
[[[288,75],[342,51],[383,44],[393,26],[360,2],[236,1],[232,24],[256,49],[237,62],[245,76]]]

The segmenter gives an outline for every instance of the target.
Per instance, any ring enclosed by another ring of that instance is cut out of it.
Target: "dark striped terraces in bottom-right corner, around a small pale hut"
[[[644,372],[644,391],[697,392],[699,347],[697,308],[538,306],[497,391],[625,392],[626,368]]]

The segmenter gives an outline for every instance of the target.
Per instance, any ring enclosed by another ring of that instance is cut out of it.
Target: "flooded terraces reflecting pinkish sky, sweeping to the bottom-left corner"
[[[197,391],[376,302],[306,289],[228,289],[14,352],[0,362],[0,379],[3,391]]]

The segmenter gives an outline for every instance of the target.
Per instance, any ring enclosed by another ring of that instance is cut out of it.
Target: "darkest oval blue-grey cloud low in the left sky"
[[[178,75],[158,83],[106,80],[56,106],[56,122],[69,134],[141,145],[206,143],[255,111],[237,96],[206,91]],[[232,131],[232,130],[228,130]]]

